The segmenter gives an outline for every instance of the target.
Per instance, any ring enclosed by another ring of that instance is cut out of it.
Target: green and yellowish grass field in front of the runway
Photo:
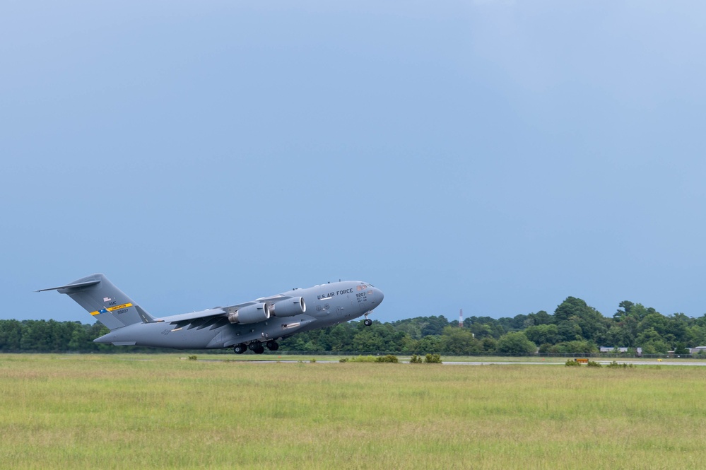
[[[179,357],[0,356],[0,467],[706,465],[704,368]]]

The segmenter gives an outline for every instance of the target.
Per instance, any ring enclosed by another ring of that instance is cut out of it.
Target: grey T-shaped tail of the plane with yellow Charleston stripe
[[[122,290],[102,274],[91,274],[65,286],[44,290],[57,290],[69,295],[78,305],[109,329],[127,327],[134,323],[151,323],[154,319]]]

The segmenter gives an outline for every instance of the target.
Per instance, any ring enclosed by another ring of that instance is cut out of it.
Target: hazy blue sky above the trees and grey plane
[[[0,318],[706,312],[705,4],[295,3],[0,5]]]

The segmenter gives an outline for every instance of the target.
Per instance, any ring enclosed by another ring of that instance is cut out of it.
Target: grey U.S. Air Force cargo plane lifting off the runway
[[[102,274],[91,274],[65,286],[40,289],[67,294],[110,332],[93,340],[115,346],[175,349],[233,348],[242,354],[277,351],[278,340],[295,333],[347,322],[367,315],[384,295],[362,281],[339,281],[201,312],[155,318]],[[264,346],[263,346],[264,345]]]

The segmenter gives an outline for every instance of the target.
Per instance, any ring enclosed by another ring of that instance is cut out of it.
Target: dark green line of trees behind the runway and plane
[[[102,324],[54,320],[0,320],[0,351],[4,352],[128,352],[158,348],[93,343],[107,333]],[[281,341],[281,351],[346,353],[445,353],[458,355],[597,353],[599,346],[642,348],[644,354],[706,346],[706,315],[662,315],[652,307],[620,302],[612,317],[569,297],[553,314],[468,317],[463,327],[443,315],[396,322],[347,322],[295,334]]]

